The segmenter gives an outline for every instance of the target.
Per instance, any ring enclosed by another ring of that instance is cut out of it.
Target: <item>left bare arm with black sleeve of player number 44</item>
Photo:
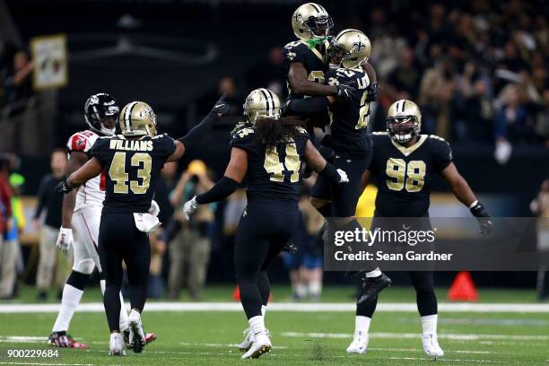
[[[231,161],[227,165],[223,178],[207,192],[194,196],[183,206],[183,213],[188,217],[196,211],[198,205],[211,204],[231,196],[237,190],[248,172],[248,153],[239,147],[231,149]]]

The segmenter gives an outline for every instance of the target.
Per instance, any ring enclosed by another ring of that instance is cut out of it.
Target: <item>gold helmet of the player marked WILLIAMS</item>
[[[144,101],[132,101],[120,112],[120,129],[125,136],[156,135],[156,115]]]

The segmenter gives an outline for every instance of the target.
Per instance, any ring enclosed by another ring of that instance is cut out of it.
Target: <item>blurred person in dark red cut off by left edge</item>
[[[12,188],[10,187],[10,157],[8,154],[0,154],[0,265],[4,267],[4,258],[9,260],[6,252],[10,252],[10,246],[6,246],[5,235],[13,228]],[[4,274],[3,274],[4,277]],[[11,297],[12,288],[1,289],[2,298]]]

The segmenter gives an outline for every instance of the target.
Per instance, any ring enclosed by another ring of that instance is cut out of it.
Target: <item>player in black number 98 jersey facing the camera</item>
[[[383,226],[380,217],[425,217],[419,223],[431,230],[429,205],[431,182],[436,175],[445,179],[457,199],[478,219],[483,234],[492,231],[490,216],[452,162],[449,144],[436,135],[420,135],[422,115],[411,100],[397,100],[388,109],[387,132],[374,133],[373,158],[364,172],[363,184],[371,177],[378,181],[378,196],[372,229]],[[378,221],[379,222],[379,221]],[[438,357],[444,352],[437,340],[437,298],[431,271],[410,272],[416,291],[417,309],[423,327],[423,350]],[[358,301],[353,343],[348,353],[364,353],[368,347],[370,320],[376,309],[373,301]]]

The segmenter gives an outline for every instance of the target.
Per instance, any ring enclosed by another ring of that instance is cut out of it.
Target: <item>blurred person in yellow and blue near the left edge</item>
[[[18,173],[10,175],[12,188],[12,229],[5,234],[4,246],[0,250],[0,299],[11,299],[17,277],[17,260],[21,249],[19,235],[25,227],[21,194],[25,178]]]

